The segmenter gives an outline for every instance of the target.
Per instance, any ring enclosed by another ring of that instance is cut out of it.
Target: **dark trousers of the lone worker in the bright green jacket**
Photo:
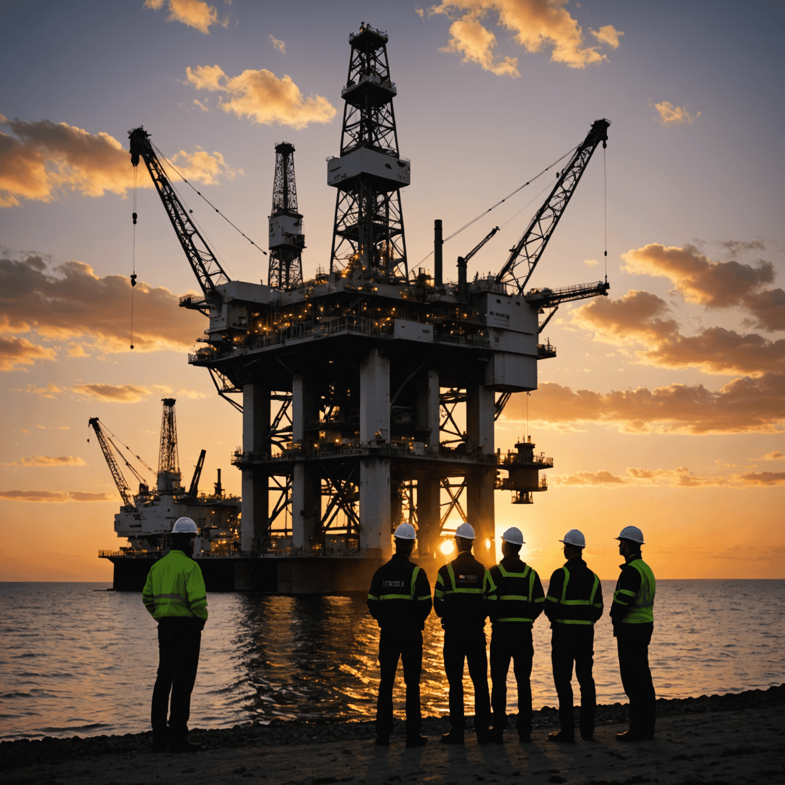
[[[202,632],[192,619],[163,619],[159,623],[158,677],[152,689],[150,710],[153,739],[158,743],[168,740],[177,744],[188,736],[191,692],[199,667],[201,641]]]

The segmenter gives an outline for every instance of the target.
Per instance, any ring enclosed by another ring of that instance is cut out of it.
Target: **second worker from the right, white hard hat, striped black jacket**
[[[600,579],[583,560],[586,539],[571,529],[559,540],[564,543],[567,563],[550,576],[545,614],[550,619],[553,683],[559,696],[560,729],[549,741],[575,741],[575,714],[572,708],[572,663],[581,688],[581,738],[591,741],[597,714],[597,692],[592,674],[594,665],[594,623],[602,615]]]

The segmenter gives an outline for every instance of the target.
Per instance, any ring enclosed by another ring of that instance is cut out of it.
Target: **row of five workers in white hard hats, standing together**
[[[425,571],[410,560],[416,532],[400,524],[395,532],[396,553],[376,571],[368,609],[381,627],[379,666],[381,680],[376,713],[376,743],[386,747],[392,733],[392,687],[398,660],[403,661],[406,683],[406,746],[422,747],[420,673],[422,630],[431,612],[431,592]],[[559,697],[560,729],[550,733],[554,742],[575,741],[572,705],[572,667],[581,689],[579,732],[594,735],[597,695],[592,675],[594,624],[603,612],[600,579],[583,560],[586,539],[572,529],[564,544],[564,567],[553,572],[548,593],[539,575],[520,559],[524,538],[513,526],[502,535],[502,560],[490,569],[472,555],[475,540],[471,524],[458,526],[458,555],[436,575],[433,610],[444,628],[444,673],[449,685],[450,730],[443,744],[462,744],[466,732],[463,704],[463,669],[469,666],[474,686],[474,731],[480,744],[503,743],[507,726],[507,674],[510,661],[518,688],[517,733],[531,741],[531,664],[534,657],[531,629],[545,611],[551,627],[553,682]],[[648,666],[648,644],[654,627],[655,579],[641,557],[641,530],[627,526],[619,537],[625,558],[611,605],[613,634],[619,650],[619,670],[630,699],[630,728],[617,733],[619,741],[654,736],[655,692]],[[491,619],[491,684],[488,694],[485,619]]]

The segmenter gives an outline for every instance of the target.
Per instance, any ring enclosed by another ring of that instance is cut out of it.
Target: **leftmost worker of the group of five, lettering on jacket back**
[[[387,564],[374,573],[368,593],[368,610],[381,627],[379,634],[379,695],[376,703],[376,743],[389,747],[392,733],[392,685],[403,662],[406,683],[406,746],[422,747],[420,674],[422,673],[422,630],[433,603],[425,570],[409,557],[417,537],[414,526],[400,524],[395,530],[395,549]]]

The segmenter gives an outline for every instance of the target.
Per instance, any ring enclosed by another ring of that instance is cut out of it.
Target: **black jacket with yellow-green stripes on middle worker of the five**
[[[545,603],[539,575],[516,554],[491,567],[491,579],[496,584],[495,593],[488,597],[491,622],[531,629]]]

